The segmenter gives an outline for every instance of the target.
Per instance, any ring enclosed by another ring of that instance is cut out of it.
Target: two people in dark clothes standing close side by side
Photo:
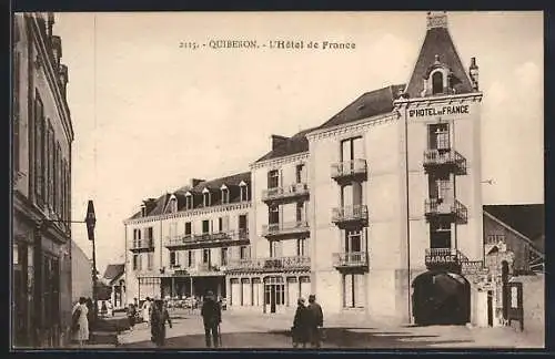
[[[320,348],[322,343],[322,328],[324,326],[324,314],[322,307],[316,302],[316,296],[309,296],[309,305],[304,298],[299,298],[291,336],[293,347],[306,348],[310,342],[312,348]]]

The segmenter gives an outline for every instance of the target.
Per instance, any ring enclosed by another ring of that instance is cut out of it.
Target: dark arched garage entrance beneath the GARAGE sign
[[[465,325],[471,319],[471,285],[461,275],[426,271],[413,280],[416,325]]]

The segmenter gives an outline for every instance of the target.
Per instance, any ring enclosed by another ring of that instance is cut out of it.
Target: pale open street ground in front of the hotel
[[[289,315],[256,315],[225,311],[222,348],[291,348]],[[204,334],[198,314],[172,312],[173,328],[168,328],[168,349],[202,349]],[[139,324],[119,336],[121,348],[154,348],[150,329]],[[391,326],[384,324],[340,322],[327,320],[323,348],[437,349],[437,348],[542,348],[543,334],[518,332],[514,328],[467,328],[464,326]]]

